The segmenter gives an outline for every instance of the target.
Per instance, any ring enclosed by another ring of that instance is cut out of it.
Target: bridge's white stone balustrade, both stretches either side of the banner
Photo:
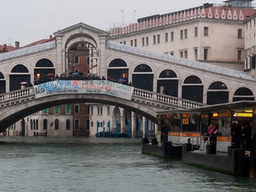
[[[33,96],[33,95],[35,95],[33,87],[25,88],[22,90],[16,90],[16,91],[11,91],[9,93],[0,94],[0,102],[1,101],[9,101],[12,99],[24,98],[24,97]],[[181,107],[186,107],[186,108],[190,108],[190,109],[204,106],[204,104],[199,103],[199,102],[189,101],[186,99],[180,99],[180,98],[176,98],[173,96],[168,96],[166,94],[160,94],[160,93],[154,93],[151,91],[140,90],[137,88],[134,88],[133,96],[137,96],[139,98],[145,98],[150,101],[161,102],[168,106],[174,105],[174,106],[181,106]]]

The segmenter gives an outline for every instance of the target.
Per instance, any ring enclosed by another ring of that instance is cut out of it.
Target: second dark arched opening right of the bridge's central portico
[[[147,64],[140,64],[135,67],[132,73],[132,85],[142,90],[153,91],[154,73]]]

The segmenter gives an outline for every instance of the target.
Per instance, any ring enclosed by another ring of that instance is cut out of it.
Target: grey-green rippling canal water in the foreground
[[[256,191],[254,179],[143,155],[137,141],[0,141],[0,191]]]

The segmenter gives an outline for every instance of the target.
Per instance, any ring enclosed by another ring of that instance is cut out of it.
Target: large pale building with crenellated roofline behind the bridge
[[[255,11],[252,7],[204,4],[170,14],[145,17],[126,27],[114,28],[109,31],[109,40],[244,70],[244,20]]]

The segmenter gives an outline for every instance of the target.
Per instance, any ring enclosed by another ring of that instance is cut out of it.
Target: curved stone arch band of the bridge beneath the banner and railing
[[[156,122],[157,119],[156,112],[152,111],[150,108],[143,106],[138,102],[132,102],[122,98],[114,98],[113,96],[103,94],[56,94],[38,99],[26,99],[25,102],[17,102],[11,106],[8,105],[6,108],[1,107],[1,110],[6,110],[6,112],[2,111],[0,114],[0,129],[4,130],[20,119],[35,112],[42,111],[43,109],[62,104],[79,102],[100,103],[117,106],[136,112],[137,114],[140,114],[153,122]]]

